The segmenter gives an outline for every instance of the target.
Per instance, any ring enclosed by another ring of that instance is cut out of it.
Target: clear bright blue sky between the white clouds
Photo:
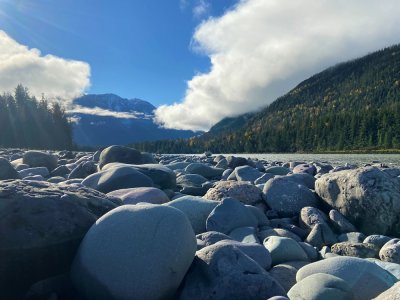
[[[186,81],[210,67],[190,42],[199,23],[235,1],[193,11],[194,0],[0,0],[0,29],[18,43],[91,67],[89,93],[154,105],[183,98]]]

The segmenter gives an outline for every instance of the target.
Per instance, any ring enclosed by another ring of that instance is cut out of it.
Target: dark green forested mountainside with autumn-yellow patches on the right
[[[222,120],[213,127],[221,130],[173,147],[215,153],[398,149],[400,45],[330,67],[243,118]],[[137,147],[169,152],[171,142],[153,145]]]

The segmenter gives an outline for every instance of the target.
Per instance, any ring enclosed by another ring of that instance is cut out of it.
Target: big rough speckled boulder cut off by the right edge
[[[400,235],[400,181],[378,168],[325,174],[315,191],[362,233]]]

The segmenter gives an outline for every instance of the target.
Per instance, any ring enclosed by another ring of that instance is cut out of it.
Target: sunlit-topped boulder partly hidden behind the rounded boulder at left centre
[[[130,167],[136,169],[140,173],[150,177],[154,185],[160,189],[175,189],[176,187],[176,175],[174,171],[161,164],[129,165],[110,163],[105,165],[102,170],[109,170],[117,167]]]

